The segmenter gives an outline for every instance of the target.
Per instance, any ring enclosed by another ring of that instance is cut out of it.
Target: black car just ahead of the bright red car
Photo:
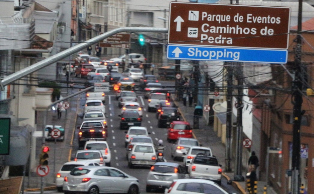
[[[163,107],[158,116],[158,127],[165,128],[170,125],[172,121],[178,121],[181,119],[180,113],[175,107]]]

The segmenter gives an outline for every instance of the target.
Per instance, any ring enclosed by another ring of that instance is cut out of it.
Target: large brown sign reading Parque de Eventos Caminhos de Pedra
[[[288,49],[289,7],[171,2],[169,44]]]

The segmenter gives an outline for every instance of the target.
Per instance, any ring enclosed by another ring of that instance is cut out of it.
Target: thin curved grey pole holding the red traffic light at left
[[[47,114],[48,114],[49,109],[50,109],[51,107],[53,107],[54,105],[56,105],[57,103],[60,103],[60,102],[62,102],[62,101],[64,101],[64,100],[67,100],[67,99],[69,99],[69,98],[72,98],[72,97],[74,97],[74,96],[76,96],[76,95],[78,95],[78,94],[81,94],[81,93],[83,93],[83,92],[85,92],[85,91],[88,91],[88,90],[90,90],[90,89],[93,89],[93,88],[94,88],[94,86],[90,86],[90,87],[85,88],[85,89],[83,89],[83,90],[81,90],[81,91],[75,92],[74,94],[71,94],[71,95],[69,95],[69,96],[67,96],[67,97],[64,97],[64,98],[62,98],[61,100],[57,100],[57,101],[51,103],[51,104],[46,108],[45,113],[44,113],[44,121],[43,121],[43,122],[44,122],[44,127],[43,127],[43,129],[42,129],[42,142],[41,142],[41,143],[42,143],[42,146],[45,146],[45,144],[46,144],[45,126],[47,125]],[[53,164],[53,165],[55,165],[55,164]],[[54,169],[55,169],[55,167],[54,167]],[[54,172],[53,172],[53,173],[54,173]],[[41,177],[40,191],[41,191],[41,194],[44,193],[44,177]]]

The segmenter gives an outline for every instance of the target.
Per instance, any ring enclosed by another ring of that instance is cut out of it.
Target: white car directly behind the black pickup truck
[[[100,150],[106,166],[111,166],[111,152],[107,141],[86,141],[84,150]]]

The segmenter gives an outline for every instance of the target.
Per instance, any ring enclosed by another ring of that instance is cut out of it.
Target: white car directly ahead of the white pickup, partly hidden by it
[[[186,169],[188,169],[192,163],[192,159],[198,154],[202,154],[203,156],[213,156],[212,150],[209,147],[193,146],[188,152],[183,153],[183,165]]]

